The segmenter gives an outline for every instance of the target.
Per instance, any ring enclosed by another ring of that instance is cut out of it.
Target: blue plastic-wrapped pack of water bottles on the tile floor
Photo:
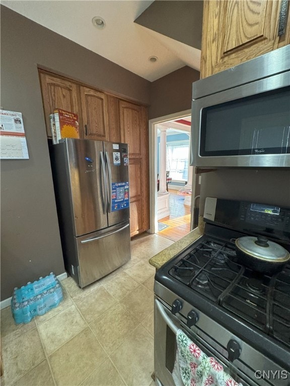
[[[11,310],[16,324],[29,323],[35,316],[44,315],[63,300],[61,285],[51,272],[33,283],[14,288]]]

